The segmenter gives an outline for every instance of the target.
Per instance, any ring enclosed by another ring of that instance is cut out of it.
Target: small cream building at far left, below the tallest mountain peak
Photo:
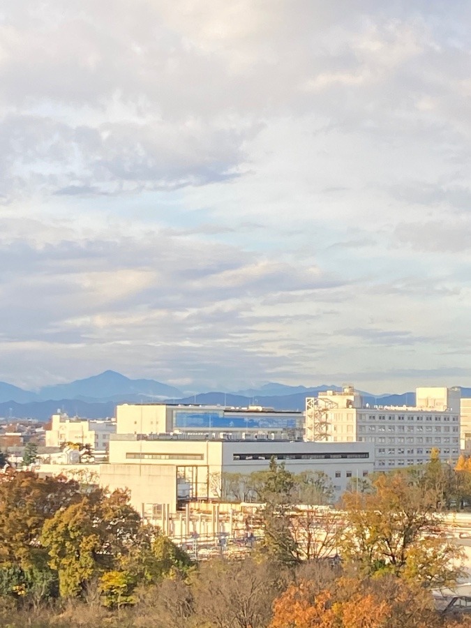
[[[52,414],[51,427],[45,432],[46,447],[61,447],[66,442],[90,445],[94,451],[108,449],[116,422],[108,419],[71,419],[67,414]]]

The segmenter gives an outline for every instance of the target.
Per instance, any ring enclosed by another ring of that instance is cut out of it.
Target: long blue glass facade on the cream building
[[[223,410],[195,412],[195,410],[176,410],[174,413],[175,428],[216,428],[241,430],[295,429],[299,419],[296,417],[269,417],[267,414],[257,416],[254,412],[247,414],[225,415]]]

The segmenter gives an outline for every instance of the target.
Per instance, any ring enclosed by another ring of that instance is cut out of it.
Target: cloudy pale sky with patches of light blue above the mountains
[[[470,30],[0,0],[0,380],[471,386]]]

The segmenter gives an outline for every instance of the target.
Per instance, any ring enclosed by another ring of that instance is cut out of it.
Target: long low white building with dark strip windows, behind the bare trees
[[[182,502],[219,499],[223,474],[266,470],[272,457],[292,473],[324,472],[335,497],[350,479],[367,477],[374,468],[374,447],[363,442],[116,434],[110,439],[109,463],[100,465],[100,482],[129,488],[133,506],[143,515],[149,504],[167,504],[172,511]]]

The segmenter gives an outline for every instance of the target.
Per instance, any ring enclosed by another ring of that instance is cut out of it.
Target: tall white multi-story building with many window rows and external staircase
[[[418,388],[414,407],[361,403],[352,387],[306,399],[306,440],[364,442],[375,447],[375,468],[420,465],[432,449],[443,461],[460,450],[460,390]]]

